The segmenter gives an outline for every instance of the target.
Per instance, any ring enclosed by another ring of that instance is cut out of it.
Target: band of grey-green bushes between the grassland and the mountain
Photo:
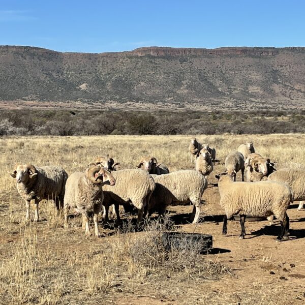
[[[5,135],[175,135],[305,133],[305,111],[2,110]]]

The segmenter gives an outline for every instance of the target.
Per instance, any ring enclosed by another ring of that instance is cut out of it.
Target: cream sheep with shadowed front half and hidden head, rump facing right
[[[149,215],[158,210],[165,212],[168,205],[188,204],[193,212],[191,221],[197,223],[200,216],[201,197],[207,188],[207,180],[195,170],[178,170],[167,175],[153,175],[156,189],[149,202]]]

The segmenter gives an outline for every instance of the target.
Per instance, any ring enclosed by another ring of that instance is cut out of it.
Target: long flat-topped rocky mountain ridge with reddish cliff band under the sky
[[[0,102],[304,108],[304,68],[304,47],[144,47],[98,54],[0,46]]]

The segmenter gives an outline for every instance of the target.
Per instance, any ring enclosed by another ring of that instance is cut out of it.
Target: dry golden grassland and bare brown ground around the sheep
[[[123,217],[120,228],[112,221],[101,229],[104,237],[86,238],[80,218],[71,217],[71,228],[65,230],[47,201],[40,203],[40,222],[25,223],[25,204],[7,174],[17,163],[63,166],[71,174],[98,156],[113,157],[122,169],[135,168],[146,155],[170,171],[194,168],[188,153],[192,136],[0,138],[0,304],[304,303],[305,211],[297,212],[296,205],[288,210],[288,241],[277,243],[279,224],[269,227],[267,221],[246,221],[245,240],[238,239],[239,223],[231,221],[228,235],[222,236],[223,211],[212,184],[228,153],[250,140],[276,168],[303,168],[305,135],[196,137],[216,147],[219,160],[208,178],[201,221],[189,224],[192,207],[177,206],[169,208],[165,225],[212,234],[218,254],[166,254],[158,239],[165,225],[150,222],[142,232],[133,232],[130,216]]]

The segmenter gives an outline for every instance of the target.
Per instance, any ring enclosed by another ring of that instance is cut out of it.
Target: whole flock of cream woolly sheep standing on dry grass
[[[43,199],[54,200],[58,211],[64,210],[64,226],[69,227],[68,214],[82,215],[82,228],[90,235],[88,212],[93,210],[95,235],[100,236],[98,217],[102,212],[107,222],[109,207],[119,218],[119,205],[126,211],[135,207],[138,224],[147,214],[163,214],[170,205],[193,204],[192,223],[200,216],[201,198],[207,188],[207,176],[213,171],[216,149],[201,145],[195,138],[189,146],[191,162],[195,157],[195,170],[169,172],[154,157],[144,157],[134,169],[119,169],[120,164],[112,158],[99,157],[82,172],[67,172],[57,166],[36,167],[31,164],[17,165],[12,173],[16,178],[17,191],[26,203],[26,220],[29,220],[29,205],[35,200],[35,218],[39,220],[38,205]],[[216,175],[220,193],[220,205],[225,211],[223,234],[227,233],[227,220],[240,215],[241,234],[244,238],[246,216],[267,217],[270,224],[273,216],[281,223],[277,240],[288,239],[289,218],[287,208],[293,200],[305,200],[305,171],[276,170],[269,159],[255,153],[253,143],[241,144],[237,151],[225,159],[226,172]],[[246,170],[246,180],[244,172]],[[242,181],[236,182],[236,173],[241,171]],[[253,183],[252,183],[253,182]]]

